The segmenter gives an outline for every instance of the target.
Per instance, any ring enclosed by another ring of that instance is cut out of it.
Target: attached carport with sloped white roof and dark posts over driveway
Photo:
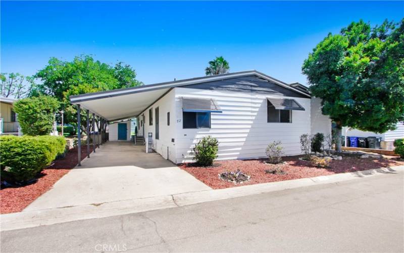
[[[81,124],[81,110],[87,112],[87,134],[90,133],[89,114],[92,114],[92,129],[95,129],[94,122],[99,125],[101,133],[102,144],[107,141],[108,136],[108,123],[127,120],[130,118],[138,117],[145,109],[153,105],[160,98],[163,98],[175,87],[193,85],[195,83],[210,82],[215,80],[223,80],[242,75],[256,74],[268,77],[258,71],[241,71],[236,73],[226,73],[215,76],[204,76],[189,78],[183,80],[174,80],[169,82],[155,83],[153,85],[145,85],[138,87],[131,87],[125,89],[117,89],[104,92],[87,93],[82,95],[70,96],[72,104],[77,105],[77,123]],[[89,137],[89,136],[88,136]],[[89,156],[89,139],[87,138],[87,154]],[[95,135],[94,135],[95,139]],[[93,149],[97,146],[94,144]],[[81,166],[81,136],[78,133],[78,166]]]

